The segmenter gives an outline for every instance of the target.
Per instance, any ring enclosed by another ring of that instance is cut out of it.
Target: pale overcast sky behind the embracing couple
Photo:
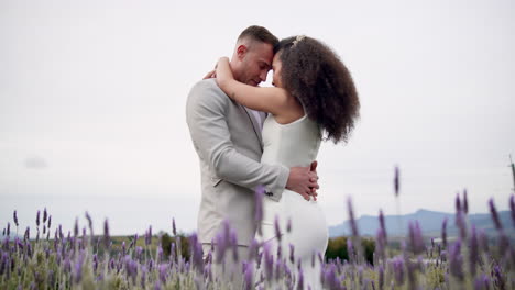
[[[186,98],[252,24],[324,41],[354,78],[361,120],[318,157],[328,224],[347,219],[347,197],[358,215],[395,214],[396,165],[402,213],[451,212],[464,188],[472,212],[491,197],[507,209],[514,11],[509,0],[0,1],[0,227],[13,210],[32,226],[47,207],[68,228],[88,210],[114,234],[169,231],[172,216],[195,230]]]

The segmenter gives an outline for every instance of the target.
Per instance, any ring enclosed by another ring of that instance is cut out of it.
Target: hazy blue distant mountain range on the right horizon
[[[515,231],[509,211],[498,212],[498,216],[506,233],[513,234]],[[457,235],[458,228],[456,226],[454,213],[418,210],[415,213],[405,215],[385,215],[384,221],[388,236],[406,235],[409,222],[418,221],[424,235],[439,237],[441,232],[441,225],[443,223],[443,219],[446,217],[448,219],[448,235]],[[490,213],[469,214],[468,220],[471,225],[475,225],[478,230],[481,228],[483,231],[486,231],[487,234],[493,234],[495,232],[495,226],[492,222],[492,216]],[[360,219],[357,220],[357,224],[360,235],[375,236],[380,226],[379,216],[362,215]],[[339,225],[329,226],[329,237],[350,234],[351,230],[349,221],[344,221],[342,224]]]

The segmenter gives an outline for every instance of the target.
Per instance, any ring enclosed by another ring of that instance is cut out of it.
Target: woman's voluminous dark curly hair
[[[282,82],[303,104],[308,118],[326,132],[327,140],[348,142],[359,118],[360,100],[352,77],[338,55],[306,36],[282,40]]]

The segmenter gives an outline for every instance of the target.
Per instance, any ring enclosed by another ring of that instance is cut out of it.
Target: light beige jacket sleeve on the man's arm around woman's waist
[[[196,150],[217,177],[255,190],[263,186],[278,201],[289,175],[283,165],[258,163],[238,153],[231,142],[226,110],[230,99],[211,80],[198,82],[189,92],[186,120]]]

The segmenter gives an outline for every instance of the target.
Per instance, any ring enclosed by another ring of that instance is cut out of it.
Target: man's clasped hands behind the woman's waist
[[[286,189],[295,191],[303,196],[305,200],[314,197],[317,200],[318,175],[317,161],[311,163],[309,167],[292,167],[289,168],[288,181]]]

